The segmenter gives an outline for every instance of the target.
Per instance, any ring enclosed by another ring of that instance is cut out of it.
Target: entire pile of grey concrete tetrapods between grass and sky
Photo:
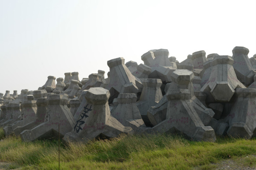
[[[216,135],[256,135],[256,54],[197,51],[179,62],[167,49],[150,50],[144,64],[122,57],[79,80],[48,76],[38,90],[0,93],[0,127],[23,141],[111,138],[121,133],[179,133],[195,141]]]

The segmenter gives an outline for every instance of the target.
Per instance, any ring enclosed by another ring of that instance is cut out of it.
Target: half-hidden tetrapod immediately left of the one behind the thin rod
[[[39,98],[36,102],[37,113],[35,114],[35,120],[27,123],[24,126],[17,126],[13,131],[16,136],[19,136],[20,133],[24,130],[31,130],[34,127],[44,122],[45,114],[48,107],[48,101],[46,98]]]

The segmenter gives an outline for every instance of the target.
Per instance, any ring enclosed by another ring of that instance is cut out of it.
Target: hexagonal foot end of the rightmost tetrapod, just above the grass
[[[246,123],[233,122],[227,131],[228,136],[232,137],[242,137],[250,139],[253,132],[248,128]]]

